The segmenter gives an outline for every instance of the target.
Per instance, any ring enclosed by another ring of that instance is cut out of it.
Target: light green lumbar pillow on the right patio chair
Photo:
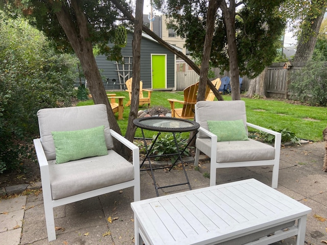
[[[233,121],[207,121],[209,131],[217,135],[217,142],[249,140],[242,119]]]

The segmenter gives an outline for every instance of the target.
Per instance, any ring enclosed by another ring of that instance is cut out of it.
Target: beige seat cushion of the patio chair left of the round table
[[[133,165],[113,150],[108,155],[55,164],[50,160],[54,200],[134,179]]]

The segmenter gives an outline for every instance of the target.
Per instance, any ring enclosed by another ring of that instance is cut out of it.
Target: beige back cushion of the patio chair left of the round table
[[[51,131],[73,131],[104,125],[107,149],[113,148],[106,106],[103,104],[65,108],[46,108],[37,112],[40,137],[47,160],[56,159]]]

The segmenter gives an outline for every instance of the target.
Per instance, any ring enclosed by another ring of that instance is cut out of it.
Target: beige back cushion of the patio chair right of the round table
[[[209,130],[207,120],[226,121],[238,119],[243,119],[247,132],[244,101],[199,101],[196,103],[195,120],[206,130]],[[207,138],[201,132],[198,133],[197,137]]]

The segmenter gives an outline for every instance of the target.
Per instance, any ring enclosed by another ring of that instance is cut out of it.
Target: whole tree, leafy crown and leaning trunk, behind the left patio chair
[[[119,45],[115,42],[116,22],[122,14],[111,1],[88,0],[7,0],[0,3],[10,13],[23,13],[30,22],[54,40],[58,50],[74,50],[81,62],[85,78],[95,104],[107,106],[110,127],[121,133],[107,99],[100,72],[92,52],[95,45],[108,59],[120,59]],[[127,9],[128,6],[122,3]]]

